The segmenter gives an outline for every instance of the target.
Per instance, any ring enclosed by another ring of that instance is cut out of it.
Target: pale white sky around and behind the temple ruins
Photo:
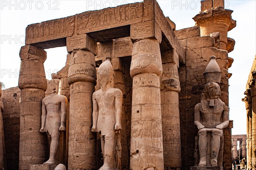
[[[26,26],[46,20],[67,17],[88,10],[140,2],[141,0],[0,0],[0,81],[6,88],[17,86],[20,69],[20,47],[25,45]],[[176,24],[176,29],[195,25],[194,17],[200,12],[200,0],[157,0],[165,16]],[[256,0],[225,0],[225,8],[233,10],[237,26],[228,37],[236,40],[229,53],[234,59],[229,72],[230,120],[233,135],[246,134],[245,86],[256,55]],[[64,67],[66,47],[46,49],[44,63],[46,78]]]

